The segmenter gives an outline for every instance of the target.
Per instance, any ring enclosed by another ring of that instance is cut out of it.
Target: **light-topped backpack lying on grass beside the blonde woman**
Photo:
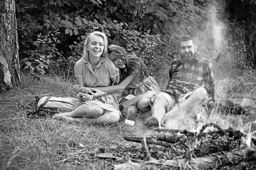
[[[53,96],[45,96],[41,99],[35,96],[35,98],[37,110],[28,113],[27,116],[52,116],[60,112],[70,112],[73,111],[74,102],[78,100],[71,97],[63,98]]]

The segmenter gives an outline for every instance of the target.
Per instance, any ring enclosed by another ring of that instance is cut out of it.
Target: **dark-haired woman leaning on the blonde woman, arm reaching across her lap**
[[[121,81],[118,85],[91,88],[90,93],[98,97],[105,92],[113,94],[122,92],[119,108],[125,116],[134,117],[139,111],[150,110],[149,102],[155,94],[160,92],[155,79],[148,76],[148,70],[142,59],[135,55],[128,55],[125,48],[118,45],[108,46],[109,59],[120,69]],[[125,99],[129,94],[132,99]]]

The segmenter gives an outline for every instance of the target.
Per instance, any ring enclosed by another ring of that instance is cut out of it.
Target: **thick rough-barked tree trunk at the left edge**
[[[0,92],[21,82],[15,0],[0,1]]]

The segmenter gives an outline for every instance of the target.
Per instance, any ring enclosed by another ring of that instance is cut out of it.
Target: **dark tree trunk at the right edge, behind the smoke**
[[[246,66],[256,69],[256,1],[244,0]]]

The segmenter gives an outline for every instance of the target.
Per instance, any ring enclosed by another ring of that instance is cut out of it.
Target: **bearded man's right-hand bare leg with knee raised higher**
[[[171,111],[166,113],[165,117],[163,118],[163,122],[166,123],[166,126],[170,125],[174,121],[178,122],[179,120],[189,117],[193,117],[196,115],[189,115],[189,112],[194,110],[198,107],[198,105],[206,99],[207,91],[204,88],[197,88],[188,99],[184,102],[180,103],[180,108],[182,114],[180,113],[178,107],[176,106]],[[183,117],[183,116],[184,117]]]

